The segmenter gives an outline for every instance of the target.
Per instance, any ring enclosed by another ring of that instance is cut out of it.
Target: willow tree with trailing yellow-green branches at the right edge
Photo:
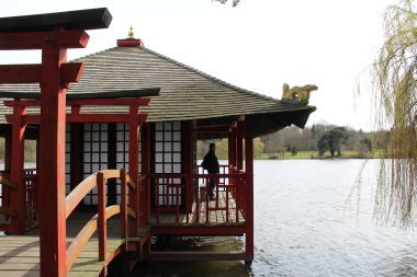
[[[407,227],[417,207],[417,13],[413,0],[388,7],[375,60],[376,127],[387,130],[375,195],[377,220]]]

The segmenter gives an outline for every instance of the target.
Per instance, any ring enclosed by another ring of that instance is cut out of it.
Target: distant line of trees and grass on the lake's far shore
[[[343,151],[356,151],[357,157],[367,158],[373,150],[381,148],[382,140],[386,137],[385,131],[367,132],[330,124],[314,124],[305,129],[293,126],[255,139],[253,152],[255,158],[281,158],[285,153],[295,155],[298,151],[314,151],[317,157],[339,157]],[[198,159],[207,152],[210,142],[213,141],[198,141]],[[227,139],[214,142],[217,157],[227,159]]]

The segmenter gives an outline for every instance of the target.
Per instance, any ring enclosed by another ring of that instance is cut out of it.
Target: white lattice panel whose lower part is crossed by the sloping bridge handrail
[[[88,177],[94,172],[108,169],[108,124],[83,125],[83,168],[82,176]],[[106,189],[106,188],[105,188]],[[84,205],[98,204],[98,191],[94,187],[83,199]]]

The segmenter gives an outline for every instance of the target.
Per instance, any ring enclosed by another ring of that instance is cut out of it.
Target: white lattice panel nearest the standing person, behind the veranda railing
[[[182,173],[181,122],[155,124],[155,173]],[[181,184],[181,178],[170,178],[171,184]],[[168,201],[167,201],[168,194]],[[182,204],[182,189],[178,191],[179,204]],[[167,189],[166,181],[159,181],[159,204],[177,205],[177,189]]]

